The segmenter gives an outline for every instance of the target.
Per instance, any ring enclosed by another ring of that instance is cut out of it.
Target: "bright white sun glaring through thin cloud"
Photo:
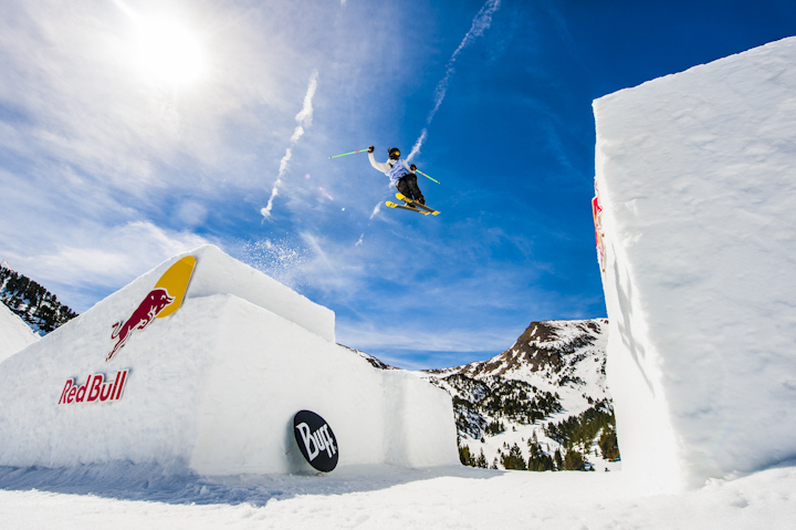
[[[193,84],[207,74],[207,53],[201,41],[176,22],[142,23],[135,62],[150,80],[175,87]]]

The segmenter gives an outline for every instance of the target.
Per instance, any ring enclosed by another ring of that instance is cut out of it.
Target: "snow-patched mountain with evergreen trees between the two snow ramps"
[[[619,467],[606,319],[532,322],[489,361],[420,373],[453,397],[462,461],[498,469]]]

